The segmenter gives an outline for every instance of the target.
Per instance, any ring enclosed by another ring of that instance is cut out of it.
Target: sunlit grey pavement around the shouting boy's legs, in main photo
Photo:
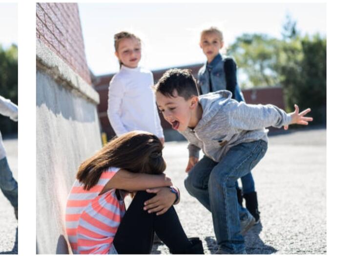
[[[269,138],[268,152],[253,170],[262,224],[245,238],[248,254],[326,254],[326,130],[291,131]],[[216,250],[210,213],[184,187],[186,142],[165,143],[166,174],[181,189],[176,205],[188,237]],[[153,254],[169,254],[155,244]]]

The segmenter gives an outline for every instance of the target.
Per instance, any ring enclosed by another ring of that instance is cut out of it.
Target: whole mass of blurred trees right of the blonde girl
[[[240,86],[282,86],[287,111],[310,107],[313,123],[326,123],[327,40],[319,34],[302,37],[289,16],[282,38],[244,34],[227,49],[248,78]]]

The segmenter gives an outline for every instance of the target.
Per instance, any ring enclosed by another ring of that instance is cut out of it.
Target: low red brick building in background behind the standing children
[[[191,73],[197,78],[197,73],[199,69],[203,66],[203,64],[194,64],[188,66],[181,67],[171,67],[171,68],[180,68],[180,69],[189,69]],[[154,81],[157,81],[161,78],[163,73],[170,68],[155,70],[152,71],[154,76]],[[115,136],[115,133],[108,121],[107,117],[107,99],[108,99],[108,86],[109,82],[114,74],[106,74],[101,76],[93,77],[93,84],[95,90],[98,91],[100,95],[100,105],[98,106],[100,123],[102,132],[107,134],[108,138],[112,138]],[[283,101],[283,91],[280,87],[269,87],[269,88],[257,88],[257,89],[249,89],[243,90],[243,94],[245,100],[249,104],[273,104],[277,107],[284,109],[284,101]],[[171,130],[170,124],[168,124],[163,116],[160,114],[161,124],[164,128],[164,131]],[[166,133],[166,132],[165,132]],[[168,133],[167,133],[168,134]],[[165,134],[166,136],[166,134]],[[166,138],[167,139],[167,138]]]

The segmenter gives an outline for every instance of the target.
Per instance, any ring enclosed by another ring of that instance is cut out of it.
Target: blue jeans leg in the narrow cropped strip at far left
[[[14,208],[18,208],[18,185],[12,176],[6,157],[0,160],[0,188]]]

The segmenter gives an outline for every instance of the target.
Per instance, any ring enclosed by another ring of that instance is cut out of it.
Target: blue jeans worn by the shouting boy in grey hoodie
[[[233,146],[219,163],[204,156],[185,180],[189,194],[212,213],[219,247],[230,253],[245,251],[240,216],[246,209],[239,207],[235,182],[247,175],[266,151],[267,142],[259,140]]]

